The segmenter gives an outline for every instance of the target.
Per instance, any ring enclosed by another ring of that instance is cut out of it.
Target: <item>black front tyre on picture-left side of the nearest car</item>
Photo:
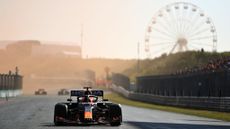
[[[55,105],[54,108],[54,124],[59,126],[59,125],[64,125],[64,119],[67,116],[68,112],[68,106],[66,104],[58,103]]]

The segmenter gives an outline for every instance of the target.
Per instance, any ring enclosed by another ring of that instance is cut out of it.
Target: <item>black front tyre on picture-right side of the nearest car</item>
[[[121,107],[117,104],[109,106],[109,120],[111,126],[119,126],[122,122],[122,111]]]

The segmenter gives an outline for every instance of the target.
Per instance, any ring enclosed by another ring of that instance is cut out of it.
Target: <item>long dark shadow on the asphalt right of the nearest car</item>
[[[124,122],[138,129],[230,129],[230,125],[198,125],[177,123],[153,123],[153,122]]]

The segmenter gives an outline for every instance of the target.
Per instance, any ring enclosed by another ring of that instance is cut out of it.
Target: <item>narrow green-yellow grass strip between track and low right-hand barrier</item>
[[[185,109],[185,108],[179,108],[179,107],[162,106],[162,105],[144,103],[144,102],[140,102],[140,101],[129,100],[129,99],[124,98],[123,96],[116,94],[116,93],[105,94],[105,98],[108,98],[109,100],[111,100],[115,103],[120,103],[120,104],[125,104],[125,105],[130,105],[130,106],[136,106],[136,107],[142,107],[142,108],[148,108],[148,109],[156,109],[156,110],[162,110],[162,111],[176,112],[176,113],[182,113],[182,114],[195,115],[195,116],[200,116],[200,117],[207,117],[207,118],[219,119],[219,120],[224,120],[224,121],[230,121],[230,113],[225,113],[225,112],[197,110],[197,109]]]

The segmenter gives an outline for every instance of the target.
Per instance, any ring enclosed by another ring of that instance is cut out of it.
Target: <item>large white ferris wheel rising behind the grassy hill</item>
[[[216,28],[201,8],[186,2],[166,5],[152,17],[145,32],[148,57],[187,50],[216,51]]]

